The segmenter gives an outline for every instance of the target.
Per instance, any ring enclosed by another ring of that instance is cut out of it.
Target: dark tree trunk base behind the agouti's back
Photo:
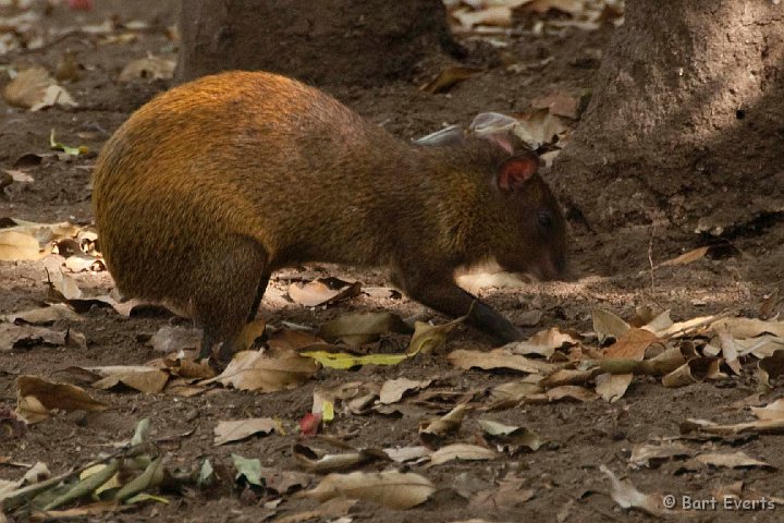
[[[460,49],[440,0],[183,0],[180,28],[180,81],[243,69],[375,85]]]

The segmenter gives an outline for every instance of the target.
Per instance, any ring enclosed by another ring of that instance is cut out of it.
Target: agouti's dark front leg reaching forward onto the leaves
[[[465,316],[468,324],[493,337],[501,343],[523,339],[523,333],[502,315],[469,292],[464,291],[451,277],[416,277],[396,272],[393,281],[405,293],[430,308],[452,317]]]

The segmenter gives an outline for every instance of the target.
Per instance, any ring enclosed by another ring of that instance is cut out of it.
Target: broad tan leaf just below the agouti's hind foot
[[[303,385],[316,374],[316,363],[292,351],[278,351],[267,355],[259,351],[241,351],[234,354],[225,370],[203,381],[219,381],[238,390],[274,392]]]

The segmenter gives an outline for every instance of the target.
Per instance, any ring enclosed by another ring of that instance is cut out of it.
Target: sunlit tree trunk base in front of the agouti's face
[[[777,3],[777,2],[776,2]],[[627,0],[553,179],[595,230],[732,233],[784,211],[784,12]]]

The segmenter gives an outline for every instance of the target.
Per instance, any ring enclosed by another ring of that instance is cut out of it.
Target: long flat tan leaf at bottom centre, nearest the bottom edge
[[[434,491],[433,484],[419,474],[388,471],[330,474],[305,494],[322,502],[344,497],[402,510],[424,503]]]

